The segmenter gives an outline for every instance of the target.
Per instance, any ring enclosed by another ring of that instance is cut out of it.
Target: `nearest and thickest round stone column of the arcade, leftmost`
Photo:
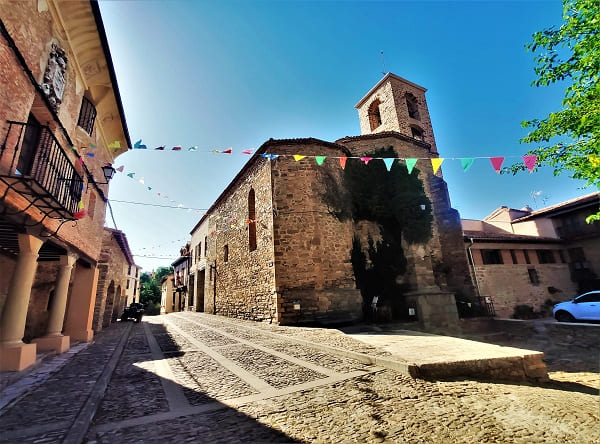
[[[0,370],[20,371],[35,363],[35,344],[25,344],[27,308],[37,270],[43,239],[19,234],[19,257],[8,285],[6,303],[0,317]]]

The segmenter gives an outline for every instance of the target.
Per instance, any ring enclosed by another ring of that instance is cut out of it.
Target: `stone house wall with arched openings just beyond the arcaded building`
[[[112,233],[108,230],[103,230],[102,252],[98,262],[99,273],[96,303],[94,306],[94,320],[92,323],[92,328],[95,332],[101,331],[103,326],[105,327],[112,322],[113,313],[121,315],[124,301],[127,298],[128,267],[129,263]],[[114,298],[108,294],[111,282],[114,283]],[[118,292],[119,288],[121,290],[120,294]]]

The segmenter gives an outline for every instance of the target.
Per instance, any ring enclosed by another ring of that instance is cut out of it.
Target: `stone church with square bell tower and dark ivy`
[[[189,307],[280,324],[455,322],[472,282],[425,92],[389,73],[356,105],[360,136],[265,142],[191,232]],[[388,171],[385,158],[399,160]],[[419,159],[410,171],[406,158]]]

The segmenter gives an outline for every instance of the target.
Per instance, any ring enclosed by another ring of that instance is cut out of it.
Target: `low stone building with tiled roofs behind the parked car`
[[[585,222],[599,202],[592,193],[541,210],[500,207],[483,220],[462,220],[473,279],[498,316],[600,288],[600,223]]]

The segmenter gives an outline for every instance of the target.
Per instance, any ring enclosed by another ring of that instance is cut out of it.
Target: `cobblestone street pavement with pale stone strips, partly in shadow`
[[[536,385],[426,381],[307,342],[386,356],[334,329],[118,323],[0,410],[0,442],[600,443],[598,391],[572,368]]]

